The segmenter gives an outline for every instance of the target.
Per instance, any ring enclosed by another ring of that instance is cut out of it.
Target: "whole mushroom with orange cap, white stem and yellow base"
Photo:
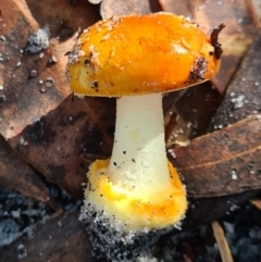
[[[82,217],[134,234],[184,217],[186,190],[166,158],[162,95],[215,75],[220,27],[210,38],[184,16],[160,12],[104,20],[79,37],[66,67],[73,92],[116,97],[112,155],[89,169]]]

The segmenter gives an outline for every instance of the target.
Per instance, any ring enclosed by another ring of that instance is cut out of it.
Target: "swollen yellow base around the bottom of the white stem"
[[[97,213],[111,217],[112,224],[116,223],[116,227],[124,230],[162,229],[181,221],[187,209],[186,190],[170,162],[170,185],[153,192],[146,188],[137,192],[112,183],[108,175],[109,163],[110,159],[97,160],[90,166],[85,204],[91,204]]]

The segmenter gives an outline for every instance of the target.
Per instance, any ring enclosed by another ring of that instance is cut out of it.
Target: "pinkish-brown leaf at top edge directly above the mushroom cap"
[[[100,13],[102,18],[110,18],[113,15],[148,14],[161,11],[157,0],[103,0]]]

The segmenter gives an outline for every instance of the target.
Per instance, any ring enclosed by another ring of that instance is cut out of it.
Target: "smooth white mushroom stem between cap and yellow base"
[[[109,174],[135,194],[149,195],[170,185],[161,93],[117,99]]]

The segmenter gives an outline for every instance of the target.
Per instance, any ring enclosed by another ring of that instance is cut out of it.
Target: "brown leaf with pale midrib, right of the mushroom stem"
[[[261,188],[261,115],[175,148],[172,162],[188,196],[213,197]]]

